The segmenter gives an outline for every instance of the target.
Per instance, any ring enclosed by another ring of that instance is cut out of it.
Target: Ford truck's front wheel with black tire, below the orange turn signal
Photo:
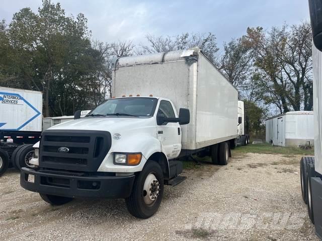
[[[135,177],[131,195],[125,198],[128,211],[138,218],[152,216],[160,206],[163,190],[162,169],[155,161],[147,161],[143,170]]]

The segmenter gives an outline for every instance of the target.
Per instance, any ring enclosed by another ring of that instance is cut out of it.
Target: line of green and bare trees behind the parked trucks
[[[66,16],[59,3],[43,0],[37,13],[24,8],[10,23],[0,21],[0,86],[42,91],[45,117],[71,115],[111,97],[114,57],[197,46],[238,89],[250,131],[259,132],[274,111],[312,110],[307,22],[248,28],[244,36],[224,43],[220,54],[214,33],[145,38],[140,45],[94,41],[83,14]]]

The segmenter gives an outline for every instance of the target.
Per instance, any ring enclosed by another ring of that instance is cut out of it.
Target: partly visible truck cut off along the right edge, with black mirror
[[[314,157],[302,157],[300,180],[308,216],[322,239],[322,0],[308,3],[313,34]]]

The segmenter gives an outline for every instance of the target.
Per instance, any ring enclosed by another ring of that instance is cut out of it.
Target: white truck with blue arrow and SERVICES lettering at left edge
[[[42,123],[42,93],[24,89],[0,87],[0,175],[8,166],[29,165],[39,141]],[[22,149],[21,149],[22,148]]]

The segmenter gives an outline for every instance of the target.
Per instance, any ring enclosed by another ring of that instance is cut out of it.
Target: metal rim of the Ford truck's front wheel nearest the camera
[[[143,201],[146,205],[153,205],[160,192],[160,184],[153,173],[149,173],[143,185]]]

